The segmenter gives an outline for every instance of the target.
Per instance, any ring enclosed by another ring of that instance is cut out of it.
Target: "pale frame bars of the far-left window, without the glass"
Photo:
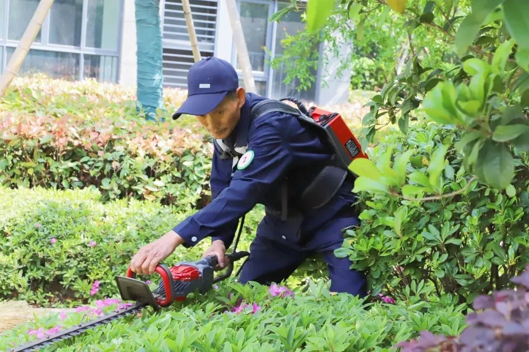
[[[16,50],[16,47],[19,45],[20,40],[11,40],[8,39],[9,33],[9,6],[10,2],[13,0],[5,0],[4,2],[4,14],[5,14],[5,23],[3,24],[4,27],[4,39],[0,39],[0,47],[3,48],[2,51],[2,59],[0,60],[1,66],[0,66],[0,72],[3,72],[7,67],[7,48],[14,48]],[[16,1],[16,0],[14,0]],[[50,34],[50,13],[46,15],[44,18],[44,21],[42,22],[41,26],[41,41],[40,42],[33,42],[31,44],[30,50],[42,50],[42,51],[52,51],[52,52],[65,52],[65,53],[71,53],[79,55],[79,74],[77,79],[83,80],[84,79],[84,69],[85,69],[85,59],[84,55],[100,55],[100,56],[110,56],[117,58],[117,65],[116,65],[116,82],[119,81],[120,73],[121,73],[121,56],[122,56],[122,40],[123,40],[123,11],[124,11],[124,0],[113,0],[117,1],[119,4],[119,15],[117,18],[118,21],[118,31],[117,31],[117,38],[116,38],[116,50],[108,50],[108,49],[101,49],[101,48],[88,48],[86,47],[86,25],[87,25],[87,16],[88,16],[88,1],[89,0],[83,0],[83,14],[81,16],[81,42],[79,47],[74,47],[70,45],[62,45],[62,44],[50,44],[49,43],[49,34]],[[27,26],[26,26],[27,28]]]

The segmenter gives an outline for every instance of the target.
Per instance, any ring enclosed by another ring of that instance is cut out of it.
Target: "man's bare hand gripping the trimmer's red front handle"
[[[167,234],[140,248],[132,257],[131,270],[136,274],[152,274],[156,266],[185,241],[175,231]]]

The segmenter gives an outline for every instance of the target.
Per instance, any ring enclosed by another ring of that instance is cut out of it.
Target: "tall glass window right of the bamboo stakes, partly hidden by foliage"
[[[309,89],[298,91],[298,80],[285,84],[284,68],[272,69],[268,63],[270,60],[268,51],[274,58],[282,55],[281,40],[286,38],[286,33],[295,35],[305,26],[300,12],[290,11],[281,17],[279,23],[270,22],[269,18],[275,12],[290,4],[288,0],[237,0],[237,4],[257,93],[274,99],[296,96],[302,100],[314,101],[319,79]],[[232,64],[239,73],[239,81],[242,85],[242,71],[235,45],[232,50]],[[317,77],[316,70],[312,73]]]

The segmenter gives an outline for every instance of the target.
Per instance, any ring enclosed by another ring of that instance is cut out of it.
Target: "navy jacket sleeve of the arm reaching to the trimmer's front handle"
[[[270,191],[294,158],[284,137],[267,122],[250,133],[248,152],[249,155],[253,153],[248,166],[237,169],[229,185],[211,203],[174,227],[174,231],[184,238],[185,247],[195,246],[205,237],[227,231]]]

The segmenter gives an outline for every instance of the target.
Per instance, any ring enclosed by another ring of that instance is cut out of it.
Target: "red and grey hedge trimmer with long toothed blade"
[[[118,309],[112,313],[105,314],[103,317],[50,335],[48,338],[29,342],[26,345],[8,349],[8,351],[38,350],[41,347],[54,344],[71,336],[79,335],[85,330],[95,328],[129,314],[135,314],[148,305],[155,311],[159,311],[161,307],[168,307],[175,301],[185,300],[191,292],[198,291],[204,294],[212,288],[214,283],[224,280],[231,275],[233,262],[249,255],[250,253],[244,251],[228,254],[227,257],[230,259],[230,263],[227,265],[224,274],[217,277],[213,276],[215,266],[218,263],[216,256],[207,256],[196,262],[180,262],[171,268],[168,268],[165,264],[159,264],[156,267],[156,272],[160,274],[162,280],[154,291],[149,289],[147,283],[136,279],[136,273],[129,267],[126,276],[116,276],[115,280],[122,300],[135,301],[136,303],[130,307]]]

